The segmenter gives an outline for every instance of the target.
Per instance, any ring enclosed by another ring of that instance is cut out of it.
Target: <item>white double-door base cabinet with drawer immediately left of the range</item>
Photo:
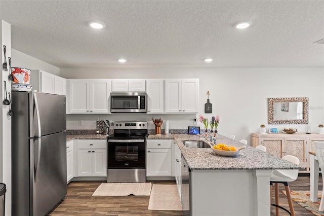
[[[106,140],[77,140],[77,175],[107,176]]]

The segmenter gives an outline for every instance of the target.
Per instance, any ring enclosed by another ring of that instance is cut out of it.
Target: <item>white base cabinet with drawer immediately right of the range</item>
[[[173,139],[147,139],[146,176],[172,176]]]

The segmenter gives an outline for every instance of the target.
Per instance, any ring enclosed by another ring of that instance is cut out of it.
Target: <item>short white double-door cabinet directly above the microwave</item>
[[[145,92],[145,80],[113,79],[112,92]]]

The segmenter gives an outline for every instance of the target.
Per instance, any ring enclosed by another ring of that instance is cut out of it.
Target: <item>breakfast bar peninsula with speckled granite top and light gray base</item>
[[[182,155],[180,163],[188,165],[189,181],[182,181],[180,193],[185,215],[270,215],[272,170],[301,168],[251,146],[234,157],[219,156],[211,148],[185,147],[184,140],[208,142],[199,134],[149,135],[150,139],[174,140],[174,151],[180,150]],[[222,135],[216,139],[218,143],[243,146]]]

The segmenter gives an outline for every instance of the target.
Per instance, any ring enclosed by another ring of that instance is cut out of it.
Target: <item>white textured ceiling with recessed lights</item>
[[[13,49],[58,67],[324,66],[324,45],[313,44],[324,1],[1,0],[0,17]],[[233,28],[242,20],[253,24]]]

